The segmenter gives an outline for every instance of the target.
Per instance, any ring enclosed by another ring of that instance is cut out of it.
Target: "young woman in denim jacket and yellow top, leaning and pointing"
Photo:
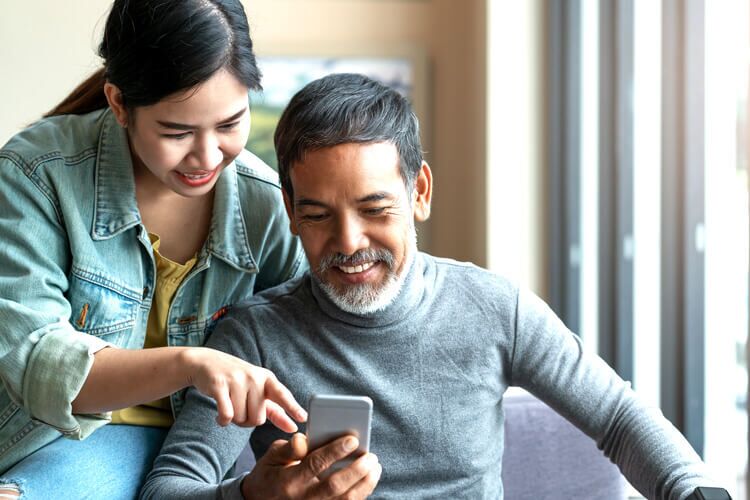
[[[187,386],[222,425],[305,418],[269,372],[194,347],[306,266],[243,149],[242,5],[116,0],[99,53],[0,150],[0,498],[132,498]]]

